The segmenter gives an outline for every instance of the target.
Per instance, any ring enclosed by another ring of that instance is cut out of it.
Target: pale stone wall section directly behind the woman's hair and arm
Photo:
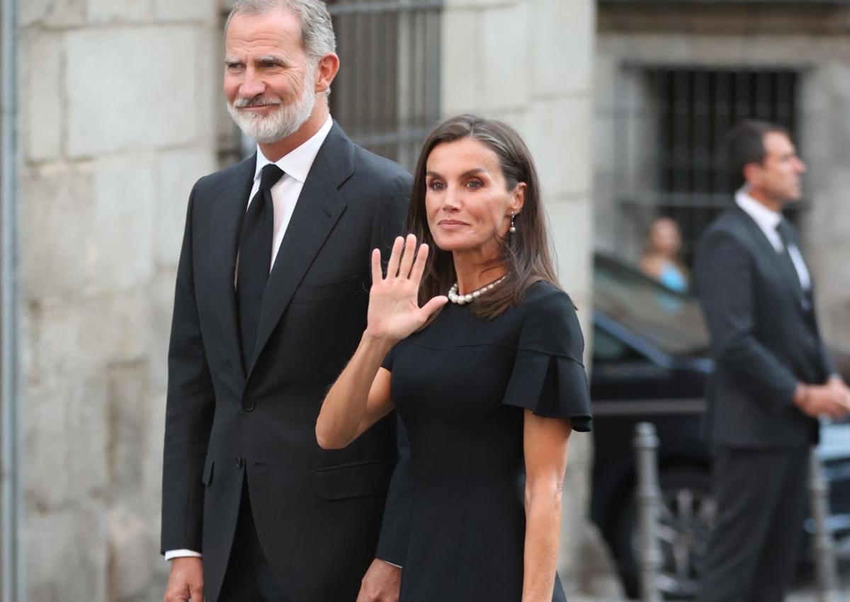
[[[476,112],[517,127],[535,157],[558,273],[590,333],[592,250],[592,0],[448,0],[443,18],[442,112]],[[590,342],[589,337],[588,343]],[[592,439],[570,441],[560,573],[576,591],[587,575]]]

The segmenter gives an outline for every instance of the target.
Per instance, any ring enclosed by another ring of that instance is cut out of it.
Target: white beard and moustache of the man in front
[[[308,75],[304,77],[304,92],[292,104],[283,104],[280,98],[237,98],[234,104],[227,104],[227,112],[239,126],[242,133],[261,143],[274,143],[292,136],[304,121],[309,119],[316,104],[313,91],[314,82]],[[252,111],[242,111],[241,107],[263,106],[274,104],[276,109],[269,115],[258,115]]]

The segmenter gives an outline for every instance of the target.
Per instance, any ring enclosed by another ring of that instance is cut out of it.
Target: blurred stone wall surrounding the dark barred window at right
[[[645,184],[641,174],[649,172],[641,165],[640,150],[654,134],[645,131],[648,95],[641,90],[639,65],[784,67],[802,74],[797,142],[808,163],[804,194],[809,203],[802,216],[802,243],[817,279],[825,337],[832,346],[850,350],[850,8],[815,3],[601,8],[594,67],[594,230],[604,250],[621,250],[624,240],[616,229],[616,154],[635,158],[621,176],[637,183],[638,190]],[[615,132],[630,132],[620,139],[634,146],[616,148]],[[625,251],[633,255],[637,249]]]

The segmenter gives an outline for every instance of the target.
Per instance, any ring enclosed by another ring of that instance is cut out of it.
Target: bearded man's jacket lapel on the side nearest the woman
[[[354,143],[336,123],[328,133],[319,154],[310,167],[307,180],[298,196],[286,234],[280,243],[269,283],[263,294],[263,305],[257,328],[257,346],[252,369],[263,347],[269,341],[280,317],[289,306],[315,256],[318,255],[334,225],[345,211],[345,200],[337,189],[354,172]]]

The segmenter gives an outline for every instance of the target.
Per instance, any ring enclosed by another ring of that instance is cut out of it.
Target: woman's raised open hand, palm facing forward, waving
[[[369,317],[366,333],[379,339],[404,339],[419,329],[433,312],[448,301],[438,295],[419,307],[419,283],[425,271],[428,245],[416,249],[416,236],[395,239],[389,255],[387,276],[381,269],[381,251],[372,250],[372,286],[369,292]]]

